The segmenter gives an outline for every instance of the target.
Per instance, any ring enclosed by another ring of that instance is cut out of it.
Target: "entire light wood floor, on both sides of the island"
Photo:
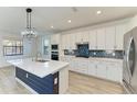
[[[70,71],[68,90],[66,94],[109,94],[123,93],[123,88],[114,82],[87,77]],[[31,94],[14,79],[14,68],[0,68],[0,94]]]

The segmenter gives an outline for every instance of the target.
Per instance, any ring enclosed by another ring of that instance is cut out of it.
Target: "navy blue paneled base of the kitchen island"
[[[15,77],[40,94],[59,93],[59,72],[40,78],[17,67]]]

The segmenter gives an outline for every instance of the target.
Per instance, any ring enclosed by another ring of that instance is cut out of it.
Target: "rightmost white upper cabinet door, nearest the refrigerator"
[[[123,49],[125,33],[126,33],[125,24],[120,24],[116,26],[116,49]]]

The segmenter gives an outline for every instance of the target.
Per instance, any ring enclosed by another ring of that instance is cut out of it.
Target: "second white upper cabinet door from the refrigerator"
[[[114,49],[115,48],[115,26],[106,27],[106,49]]]

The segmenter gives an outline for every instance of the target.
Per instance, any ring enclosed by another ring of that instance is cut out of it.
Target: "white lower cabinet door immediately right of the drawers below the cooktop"
[[[89,64],[88,64],[88,75],[96,77],[96,71],[97,71],[96,68],[97,68],[97,65],[94,61],[89,61]]]

